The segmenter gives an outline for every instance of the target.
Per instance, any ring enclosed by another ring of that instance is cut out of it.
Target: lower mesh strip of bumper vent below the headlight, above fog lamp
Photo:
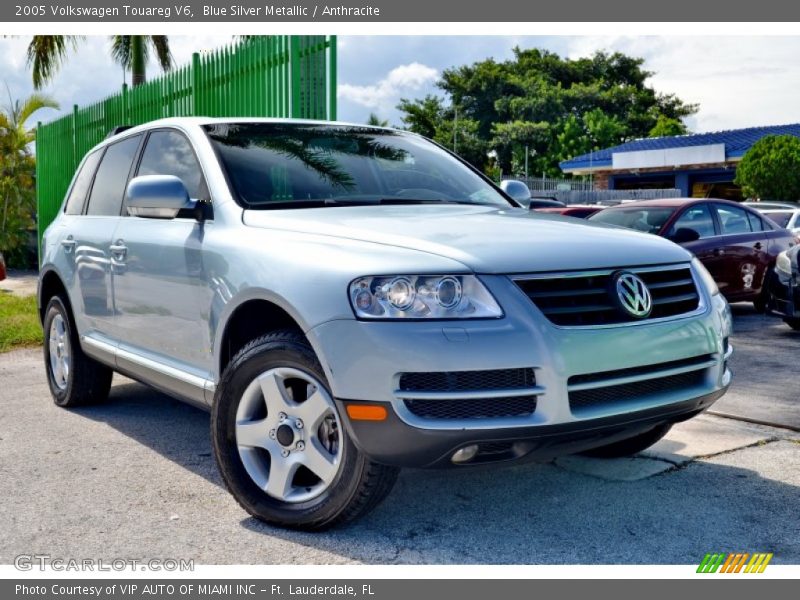
[[[497,419],[529,417],[536,396],[469,398],[459,400],[405,400],[408,410],[423,419]]]

